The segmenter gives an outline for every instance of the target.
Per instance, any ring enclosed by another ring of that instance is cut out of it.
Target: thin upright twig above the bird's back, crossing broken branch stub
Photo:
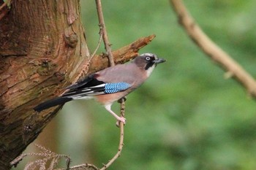
[[[108,41],[107,29],[106,29],[105,21],[103,17],[102,2],[101,0],[95,0],[95,1],[96,1],[96,7],[97,7],[97,13],[98,13],[98,19],[99,19],[99,26],[102,27],[102,31],[103,31],[103,42],[105,45],[105,50],[108,53],[110,66],[115,66],[115,62],[114,62],[111,47],[110,47],[110,42]]]

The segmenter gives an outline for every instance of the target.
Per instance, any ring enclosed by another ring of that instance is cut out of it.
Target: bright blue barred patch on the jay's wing
[[[127,82],[114,82],[105,84],[105,93],[117,93],[119,91],[127,90],[131,85]]]

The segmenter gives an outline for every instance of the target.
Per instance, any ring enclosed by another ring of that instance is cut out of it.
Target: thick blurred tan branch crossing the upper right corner
[[[195,44],[211,59],[219,63],[227,71],[229,77],[233,76],[244,85],[250,96],[256,98],[256,81],[254,78],[234,61],[230,55],[225,53],[206,36],[197,23],[195,23],[181,0],[170,0],[170,3],[173,4],[173,9],[178,15],[179,23],[181,23],[181,26],[184,26],[187,34],[196,42]]]

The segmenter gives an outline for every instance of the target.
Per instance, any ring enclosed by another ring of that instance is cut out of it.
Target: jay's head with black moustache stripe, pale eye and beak
[[[135,58],[133,62],[140,67],[140,69],[144,69],[149,76],[157,64],[165,62],[165,59],[158,58],[157,55],[152,53],[144,53]]]

